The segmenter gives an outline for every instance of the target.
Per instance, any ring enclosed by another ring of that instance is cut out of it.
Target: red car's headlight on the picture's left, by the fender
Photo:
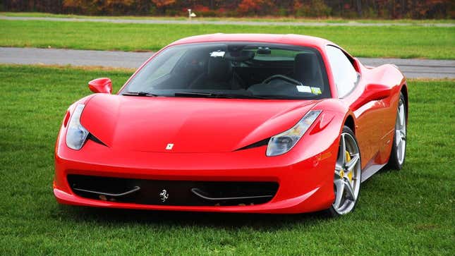
[[[80,115],[84,110],[84,106],[84,104],[78,104],[75,107],[66,132],[66,145],[73,150],[80,150],[89,134],[88,130],[80,124]]]

